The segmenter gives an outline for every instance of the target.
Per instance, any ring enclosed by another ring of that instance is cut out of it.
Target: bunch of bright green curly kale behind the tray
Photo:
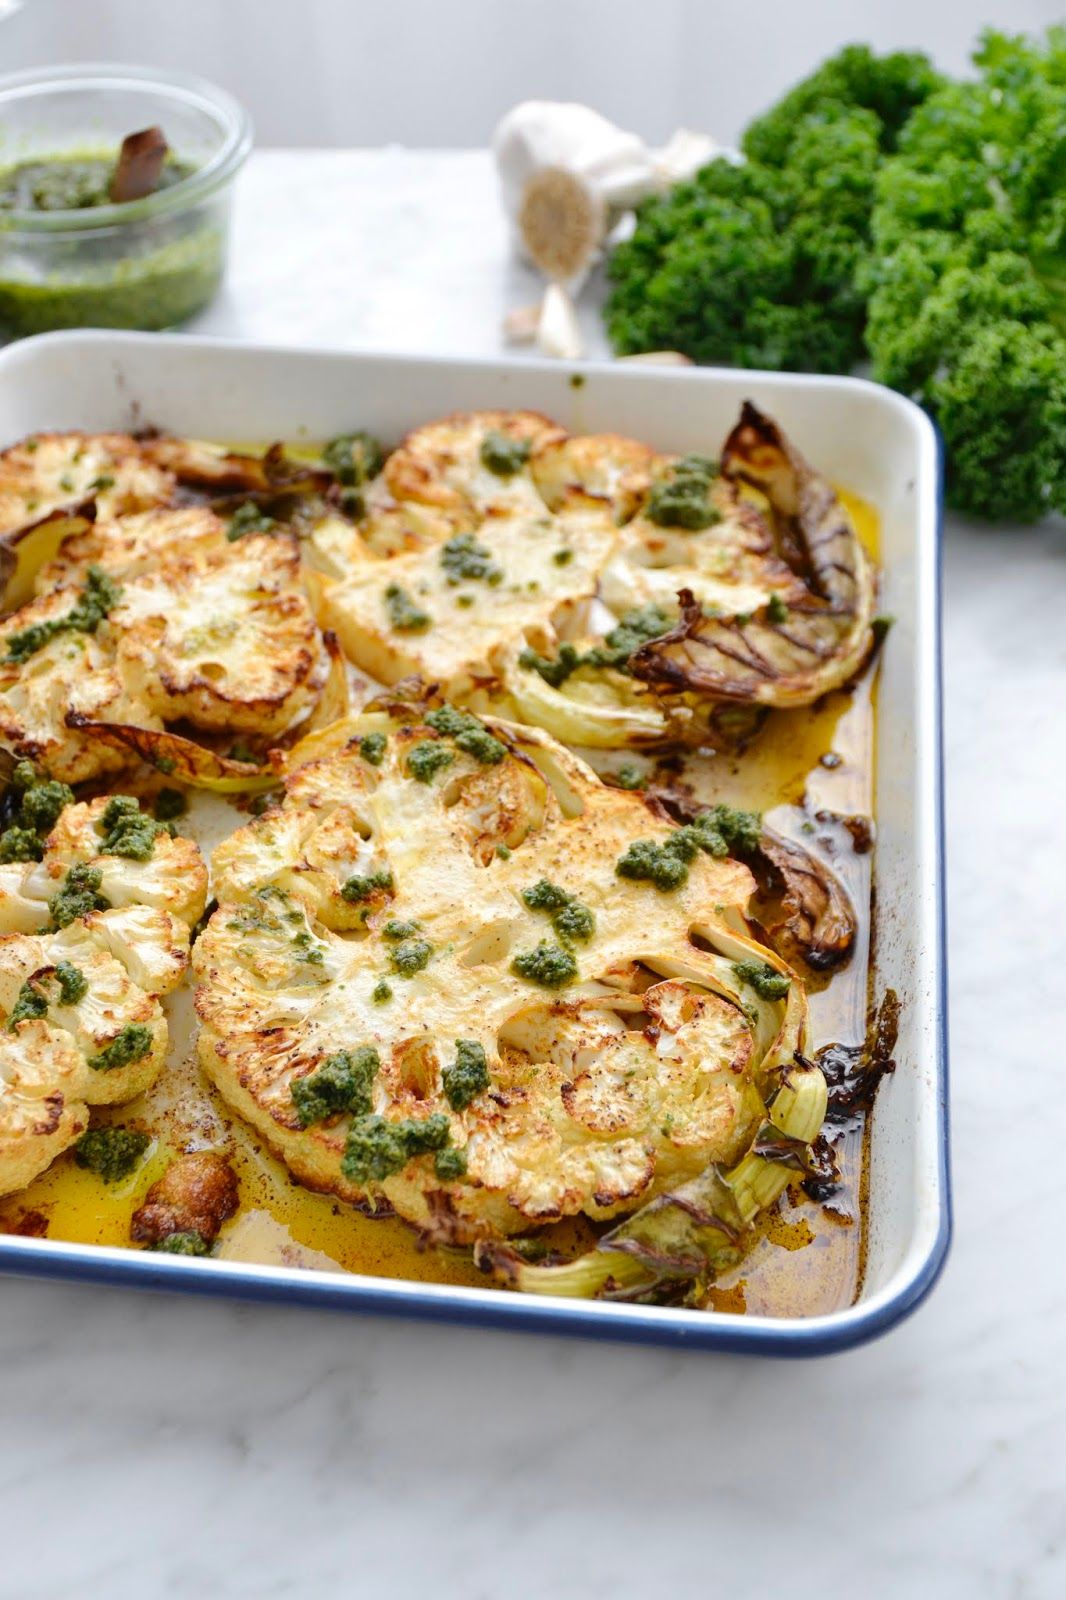
[[[848,46],[648,202],[610,261],[623,352],[848,371],[919,400],[960,510],[1066,512],[1066,29],[978,75]]]

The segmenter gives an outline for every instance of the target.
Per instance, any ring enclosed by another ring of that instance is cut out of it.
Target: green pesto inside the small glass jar
[[[109,205],[114,155],[54,155],[0,171],[0,238],[13,211],[61,213]],[[170,160],[157,189],[194,168]],[[21,242],[24,235],[16,235]],[[117,232],[40,235],[0,264],[0,334],[50,328],[173,328],[211,299],[222,278],[224,235],[203,206],[150,216],[133,202]],[[18,262],[18,264],[16,264]]]

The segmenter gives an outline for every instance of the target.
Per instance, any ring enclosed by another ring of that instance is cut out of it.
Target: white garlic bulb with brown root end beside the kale
[[[690,176],[717,146],[680,130],[655,152],[591,106],[523,101],[498,125],[493,152],[519,253],[576,294],[619,216]]]

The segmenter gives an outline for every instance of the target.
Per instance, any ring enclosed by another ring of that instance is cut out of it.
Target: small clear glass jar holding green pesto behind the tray
[[[173,328],[226,269],[234,178],[251,120],[222,90],[150,67],[70,66],[0,78],[0,173],[27,160],[114,160],[158,125],[189,176],[142,200],[0,210],[0,338],[51,328]]]

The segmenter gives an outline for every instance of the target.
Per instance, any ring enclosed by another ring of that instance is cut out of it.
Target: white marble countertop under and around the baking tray
[[[264,152],[240,338],[498,347],[475,155]],[[810,1365],[0,1285],[0,1595],[1066,1594],[1061,526],[949,526],[957,1235]]]

